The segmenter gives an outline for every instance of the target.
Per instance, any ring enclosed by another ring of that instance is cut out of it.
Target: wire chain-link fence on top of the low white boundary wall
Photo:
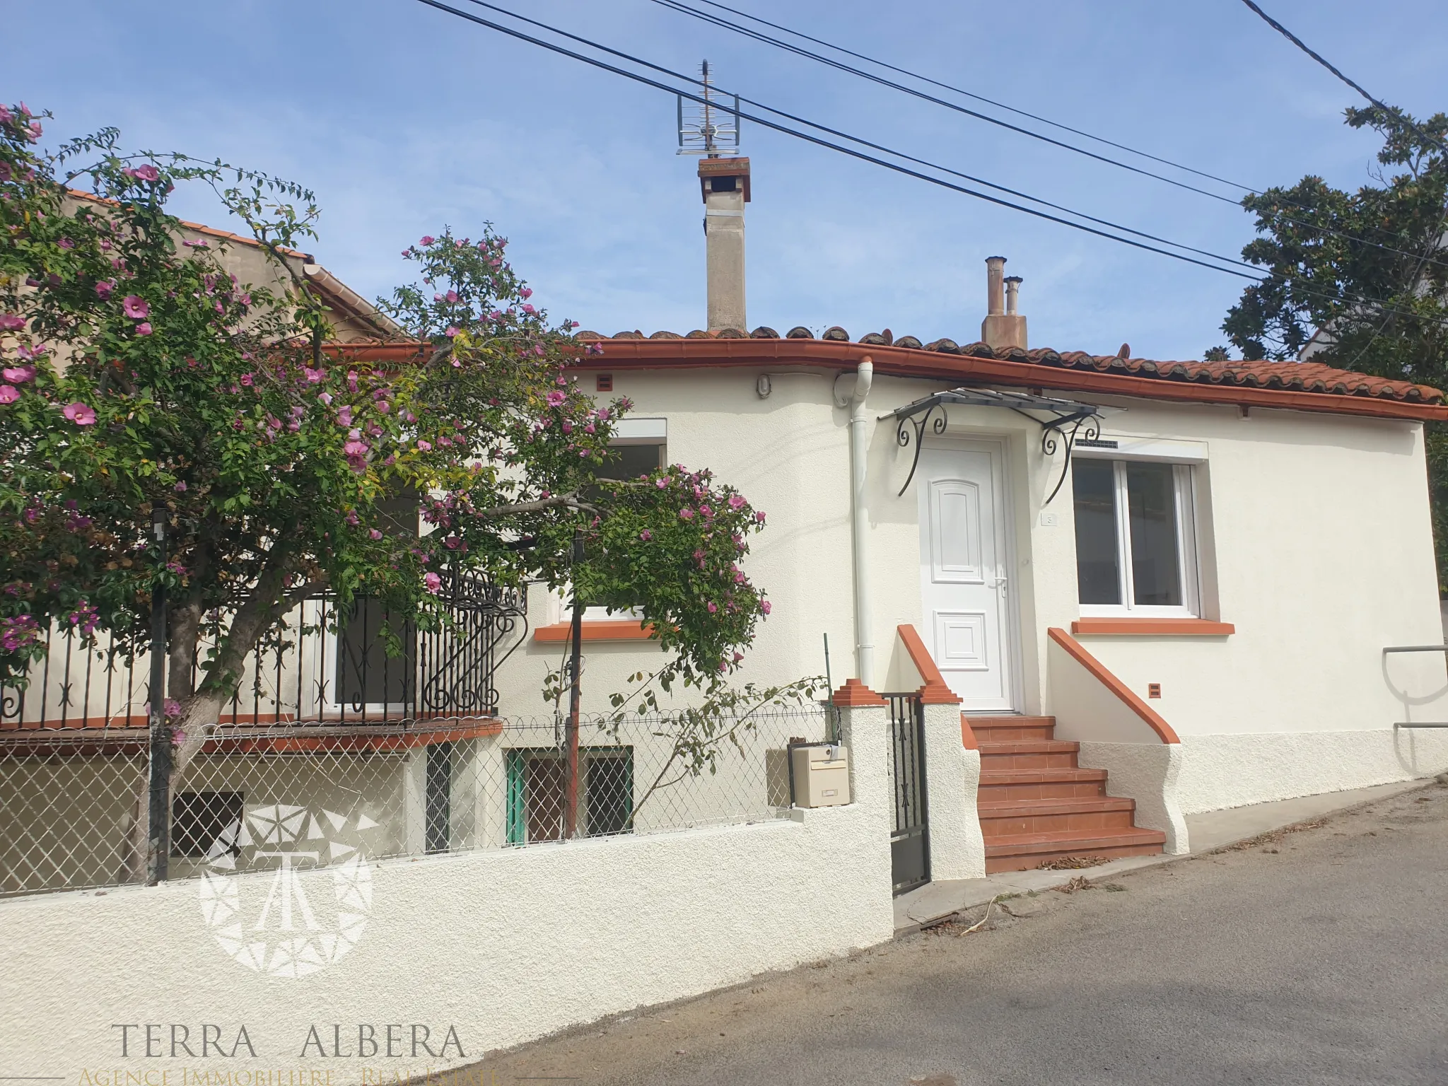
[[[135,670],[143,675],[143,669]],[[0,717],[0,896],[145,880],[140,702]],[[830,710],[738,718],[223,717],[169,788],[167,877],[524,847],[778,818],[788,746]]]

